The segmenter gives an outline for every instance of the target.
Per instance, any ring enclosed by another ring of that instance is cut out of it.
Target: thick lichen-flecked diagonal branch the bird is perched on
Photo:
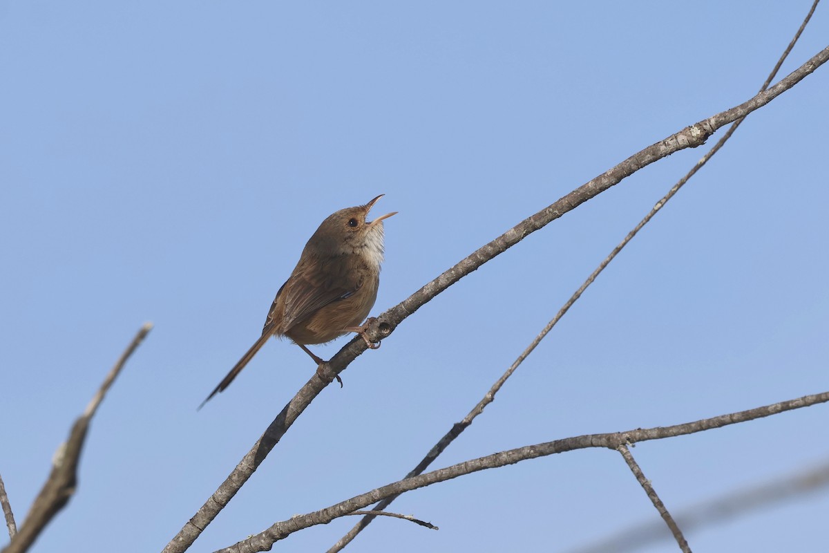
[[[452,284],[458,282],[463,276],[478,269],[482,264],[502,254],[511,246],[516,245],[526,235],[530,235],[536,230],[543,228],[551,221],[555,221],[555,219],[563,216],[567,211],[571,211],[585,201],[598,196],[601,192],[618,184],[624,177],[632,175],[642,167],[650,165],[682,149],[700,146],[718,129],[768,104],[779,95],[782,95],[783,92],[792,88],[807,75],[812,74],[814,70],[826,63],[827,60],[829,60],[829,47],[812,56],[805,64],[797,68],[797,70],[794,70],[790,75],[766,92],[754,96],[754,98],[745,101],[743,104],[703,119],[699,123],[691,125],[691,127],[682,129],[678,133],[671,134],[671,136],[648,146],[641,152],[635,153],[630,158],[619,163],[616,167],[602,173],[599,177],[595,177],[581,187],[576,188],[573,192],[555,201],[552,205],[545,207],[545,209],[535,215],[521,221],[521,223],[507,230],[503,235],[458,262],[458,264],[445,271],[444,274],[441,274],[429,284],[426,284],[394,308],[390,308],[385,313],[382,313],[366,331],[368,337],[371,338],[372,342],[379,342],[382,338],[388,337],[398,324],[402,323],[405,318],[409,317],[425,303],[429,302],[429,300],[445,289],[448,289]],[[366,348],[366,342],[359,337],[347,343],[346,346],[337,352],[337,355],[332,357],[331,361],[328,361],[323,366],[326,369],[327,375],[333,378],[334,375],[338,375],[344,371],[351,361],[354,361],[357,356],[366,351]],[[177,535],[164,547],[163,553],[181,553],[182,551],[186,551],[196,541],[201,531],[216,518],[225,505],[235,496],[236,492],[245,485],[245,482],[248,481],[256,468],[259,467],[259,464],[274,449],[279,439],[282,439],[282,436],[288,431],[293,421],[310,405],[311,401],[317,397],[324,386],[327,386],[327,382],[322,382],[316,375],[311,377],[302,389],[298,391],[297,395],[288,401],[288,404],[284,406],[276,419],[274,419],[264,434],[256,441],[253,448],[245,454],[245,457],[236,465],[230,475],[225,478],[225,482],[221,483],[216,492],[213,492],[211,497],[199,508],[196,514],[187,521]]]

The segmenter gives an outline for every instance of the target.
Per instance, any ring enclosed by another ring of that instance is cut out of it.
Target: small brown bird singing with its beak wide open
[[[365,206],[347,207],[328,216],[313,233],[293,273],[276,293],[265,319],[262,336],[230,369],[224,380],[201,402],[199,409],[248,364],[271,336],[288,337],[317,363],[322,359],[306,347],[331,342],[347,332],[359,332],[374,347],[360,327],[377,298],[380,265],[383,262],[383,220],[366,216],[377,196]]]

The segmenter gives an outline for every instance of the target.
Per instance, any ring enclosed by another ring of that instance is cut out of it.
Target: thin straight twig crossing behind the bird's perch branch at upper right
[[[783,51],[783,55],[780,56],[780,59],[778,60],[777,64],[774,65],[774,69],[768,75],[768,78],[765,80],[764,84],[760,87],[760,92],[766,90],[768,88],[768,85],[778,74],[778,70],[780,70],[781,65],[783,65],[783,61],[785,61],[785,59],[788,57],[788,54],[792,51],[792,48],[797,42],[797,39],[800,38],[803,29],[806,28],[807,23],[812,18],[812,14],[815,12],[815,8],[817,7],[817,2],[820,2],[820,0],[815,0],[815,2],[812,3],[812,9],[807,13],[806,18],[803,20],[800,28],[797,29],[797,32],[795,33],[792,41],[789,42],[786,50]],[[691,177],[693,177],[696,174],[697,171],[699,171],[705,165],[705,163],[708,163],[708,160],[714,157],[715,153],[720,151],[720,148],[722,148],[725,142],[728,141],[729,138],[731,138],[731,136],[734,134],[734,131],[737,130],[737,127],[739,127],[739,124],[742,123],[744,119],[745,117],[741,117],[734,121],[734,124],[730,126],[730,128],[726,131],[725,135],[723,135],[723,137],[720,138],[719,141],[717,141],[717,143],[708,151],[708,153],[705,153],[705,156],[703,156],[700,159],[700,161],[698,161],[694,165],[694,167],[691,167],[691,170],[689,170],[686,173],[685,177],[682,177],[678,182],[676,182],[676,184],[673,187],[671,187],[667,194],[663,196],[660,201],[657,201],[656,205],[653,206],[651,211],[647,213],[647,215],[642,219],[642,221],[639,221],[638,225],[633,227],[633,230],[628,232],[628,235],[624,237],[624,240],[622,240],[615,248],[613,248],[613,251],[611,251],[610,254],[604,259],[604,261],[602,261],[599,264],[599,266],[593,271],[593,273],[589,275],[589,277],[584,281],[584,283],[581,284],[581,286],[579,286],[579,289],[577,289],[573,293],[573,295],[570,296],[570,299],[568,299],[565,302],[565,304],[559,309],[559,312],[555,314],[555,317],[552,318],[552,320],[550,320],[550,323],[547,323],[547,325],[541,330],[541,332],[539,332],[539,334],[532,340],[532,342],[530,342],[530,345],[527,346],[523,352],[521,352],[521,355],[519,355],[518,358],[515,361],[513,361],[513,363],[507,369],[507,371],[504,372],[504,374],[492,385],[492,387],[487,391],[487,393],[482,397],[482,399],[478,401],[478,405],[475,405],[461,422],[453,424],[452,429],[449,429],[449,431],[446,434],[444,434],[443,438],[439,439],[437,444],[434,444],[434,447],[429,450],[429,453],[426,454],[426,456],[420,460],[420,463],[418,463],[418,465],[414,467],[410,471],[410,473],[406,475],[405,478],[410,478],[413,476],[417,476],[420,473],[423,473],[423,471],[429,467],[429,465],[434,461],[434,459],[438,458],[439,455],[442,454],[446,448],[448,448],[449,444],[451,444],[454,441],[454,439],[458,438],[458,436],[463,433],[463,430],[467,429],[467,427],[473,423],[473,420],[478,415],[481,415],[483,413],[484,408],[495,400],[495,395],[499,390],[501,390],[502,386],[504,386],[504,384],[507,382],[507,379],[510,376],[512,376],[512,374],[516,371],[518,366],[521,366],[521,363],[527,357],[529,357],[533,350],[536,349],[538,344],[541,343],[541,340],[543,340],[547,336],[547,334],[550,333],[553,327],[555,327],[555,325],[561,320],[561,318],[565,316],[565,313],[567,313],[570,310],[570,308],[573,307],[573,304],[576,303],[576,301],[578,301],[578,299],[581,297],[581,294],[584,293],[586,289],[588,289],[590,284],[594,283],[595,279],[599,276],[599,274],[601,274],[602,271],[604,271],[604,269],[608,266],[608,264],[610,264],[610,262],[613,261],[613,259],[619,254],[619,252],[621,252],[623,248],[626,245],[628,245],[628,242],[633,240],[633,237],[638,234],[639,230],[642,230],[642,227],[647,225],[647,223],[651,221],[651,219],[654,216],[657,215],[657,212],[665,206],[667,201],[669,201],[676,194],[676,192],[678,192],[679,189],[686,182],[688,182],[691,179]],[[396,498],[397,496],[386,498],[380,504],[374,507],[374,510],[382,511],[383,509],[385,509],[385,507],[388,507],[391,502],[395,501]],[[342,551],[342,549],[345,546],[347,546],[357,536],[357,534],[359,534],[363,530],[363,528],[365,528],[371,523],[371,520],[373,518],[374,517],[371,514],[366,515],[365,518],[357,522],[356,525],[354,525],[351,528],[351,530],[349,530],[344,536],[342,536],[337,541],[337,543],[335,543],[327,551],[327,553],[337,553],[337,551]]]

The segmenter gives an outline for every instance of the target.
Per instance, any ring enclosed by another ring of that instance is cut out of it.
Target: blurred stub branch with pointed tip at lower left
[[[138,348],[138,345],[147,336],[148,332],[152,330],[151,323],[144,324],[141,330],[133,338],[133,342],[129,344],[124,353],[121,354],[119,360],[109,371],[109,374],[104,379],[99,390],[95,396],[86,406],[83,415],[80,415],[78,420],[72,426],[72,430],[67,439],[58,448],[55,456],[52,458],[52,469],[49,474],[49,479],[41,488],[32,508],[23,521],[23,525],[17,536],[12,539],[12,542],[3,550],[3,553],[22,553],[27,551],[29,547],[40,536],[41,531],[51,521],[55,515],[65,507],[69,502],[70,497],[75,493],[77,486],[77,471],[80,463],[80,452],[84,447],[86,433],[89,430],[90,422],[101,401],[104,399],[109,387],[119,375],[119,372],[124,368],[128,358]]]

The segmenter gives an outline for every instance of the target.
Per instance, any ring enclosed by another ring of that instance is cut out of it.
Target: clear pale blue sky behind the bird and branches
[[[381,313],[754,95],[808,5],[0,2],[0,474],[18,521],[106,371],[156,325],[34,551],[160,551],[196,512],[314,370],[269,342],[196,412],[332,211],[381,193],[377,213],[400,211]],[[827,36],[822,6],[781,75]],[[827,390],[827,90],[823,67],[753,114],[434,468]],[[191,551],[402,477],[703,153],[638,172],[407,319],[322,392]],[[633,453],[680,509],[825,460],[827,409]],[[815,551],[827,509],[824,492],[687,537],[695,551]],[[657,517],[598,449],[392,510],[441,530],[376,521],[348,551],[565,551]],[[355,522],[277,549],[324,551]]]

